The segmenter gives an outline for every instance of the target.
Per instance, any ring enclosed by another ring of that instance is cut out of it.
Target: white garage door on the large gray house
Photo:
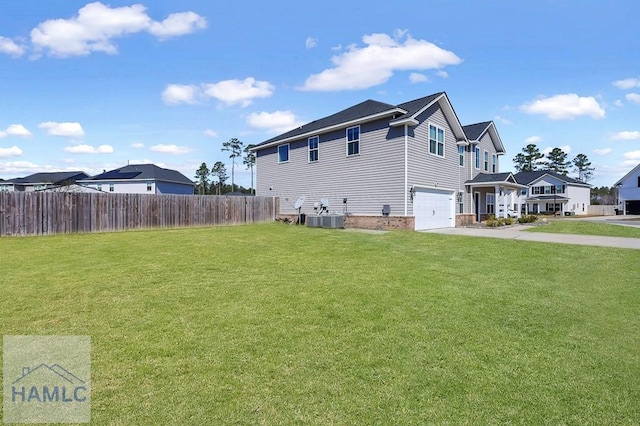
[[[416,188],[413,196],[415,230],[456,226],[454,191]]]

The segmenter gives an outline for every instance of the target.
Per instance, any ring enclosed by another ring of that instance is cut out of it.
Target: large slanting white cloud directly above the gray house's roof
[[[332,91],[366,89],[387,82],[395,71],[440,69],[462,62],[453,52],[425,40],[396,32],[365,35],[365,47],[349,46],[331,58],[334,68],[307,78],[300,90]],[[366,70],[366,72],[364,71]]]

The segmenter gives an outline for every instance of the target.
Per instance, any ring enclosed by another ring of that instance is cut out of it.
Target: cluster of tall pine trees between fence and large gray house
[[[229,153],[231,159],[231,185],[227,184],[229,175],[227,174],[227,167],[222,161],[216,161],[211,168],[207,166],[207,163],[200,164],[200,167],[196,170],[195,180],[196,187],[194,192],[199,195],[223,195],[230,192],[241,192],[245,194],[255,194],[253,188],[253,169],[256,164],[256,154],[251,151],[255,145],[245,145],[244,142],[237,138],[231,138],[222,143],[221,150]],[[242,160],[242,164],[251,170],[251,188],[244,188],[241,185],[235,184],[235,169],[236,161]]]

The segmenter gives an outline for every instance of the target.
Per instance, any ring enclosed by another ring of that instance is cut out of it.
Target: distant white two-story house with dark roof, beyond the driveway
[[[514,177],[527,187],[519,197],[522,213],[586,215],[589,212],[589,184],[550,170],[520,172]]]

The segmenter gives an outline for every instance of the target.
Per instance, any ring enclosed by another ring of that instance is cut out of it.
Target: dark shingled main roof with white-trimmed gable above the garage
[[[467,137],[462,129],[460,120],[458,120],[458,116],[449,102],[447,94],[445,92],[438,92],[399,105],[391,105],[369,99],[261,142],[255,145],[252,150],[260,150],[277,143],[284,143],[305,136],[313,136],[318,133],[326,133],[331,130],[366,123],[387,116],[392,117],[391,126],[404,124],[415,126],[418,124],[416,117],[436,102],[440,103],[445,117],[449,120],[456,135],[456,140],[467,143]]]

